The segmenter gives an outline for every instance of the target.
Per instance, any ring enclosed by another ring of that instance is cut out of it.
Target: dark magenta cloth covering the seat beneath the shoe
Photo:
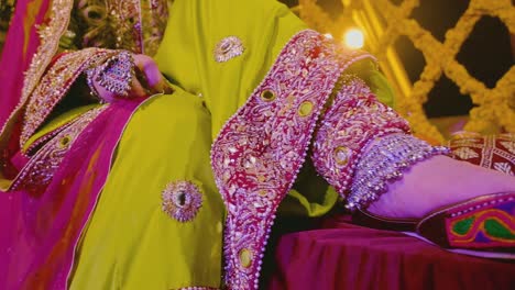
[[[284,235],[267,289],[513,289],[515,264],[453,254],[403,233],[332,217]]]

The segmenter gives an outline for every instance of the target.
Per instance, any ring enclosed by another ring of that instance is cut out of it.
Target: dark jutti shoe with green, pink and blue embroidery
[[[438,209],[420,220],[388,219],[359,210],[352,221],[402,231],[454,253],[515,258],[515,192],[473,198]]]

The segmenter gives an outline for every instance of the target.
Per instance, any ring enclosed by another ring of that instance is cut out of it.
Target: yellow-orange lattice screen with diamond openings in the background
[[[380,66],[393,83],[398,99],[397,110],[410,122],[418,134],[434,141],[443,135],[431,124],[423,109],[435,83],[442,77],[456,83],[462,94],[470,96],[474,108],[470,111],[464,130],[481,133],[515,132],[515,66],[489,88],[474,78],[467,67],[457,60],[463,43],[474,25],[484,16],[498,18],[515,34],[515,8],[511,0],[470,0],[468,9],[456,25],[437,40],[424,29],[412,12],[420,0],[338,0],[342,11],[325,11],[316,0],[299,0],[293,10],[311,27],[332,35],[342,35],[343,27],[355,23],[366,34],[368,48],[380,59]],[[430,0],[421,0],[430,1]],[[330,12],[330,13],[329,13]],[[337,18],[333,15],[338,14]],[[435,15],[438,21],[438,15]],[[398,37],[408,37],[424,55],[426,66],[418,80],[412,82],[394,49]],[[487,57],[478,55],[478,57]]]

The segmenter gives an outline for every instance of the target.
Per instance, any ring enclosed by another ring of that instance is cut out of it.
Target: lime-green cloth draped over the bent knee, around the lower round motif
[[[70,289],[220,286],[224,210],[210,144],[210,116],[196,96],[176,88],[138,109],[83,235]],[[202,207],[185,223],[162,210],[162,191],[178,180],[202,191]]]

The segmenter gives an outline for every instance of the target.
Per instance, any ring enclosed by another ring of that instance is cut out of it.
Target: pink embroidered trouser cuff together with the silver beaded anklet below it
[[[409,132],[408,123],[381,103],[364,81],[343,75],[342,87],[320,121],[311,158],[346,199],[347,209],[366,208],[405,168],[448,152]]]

